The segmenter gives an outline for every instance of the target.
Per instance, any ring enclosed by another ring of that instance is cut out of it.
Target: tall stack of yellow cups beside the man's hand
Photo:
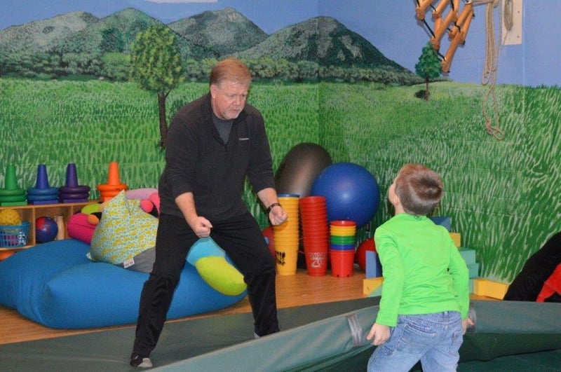
[[[279,275],[295,275],[299,247],[299,195],[279,194],[278,202],[288,214],[288,219],[273,226],[275,241],[276,271]]]

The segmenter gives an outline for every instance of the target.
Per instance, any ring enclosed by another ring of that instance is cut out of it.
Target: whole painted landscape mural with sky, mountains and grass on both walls
[[[208,90],[212,64],[235,54],[255,74],[250,102],[266,120],[275,167],[292,146],[315,142],[370,170],[385,200],[403,163],[425,163],[445,181],[435,214],[452,217],[480,275],[510,281],[559,230],[561,41],[539,27],[561,5],[525,4],[522,44],[499,42],[492,87],[481,84],[485,9],[474,7],[450,74],[431,78],[426,100],[415,65],[431,35],[415,1],[395,3],[0,0],[11,9],[0,20],[0,184],[15,165],[20,187],[32,187],[46,164],[62,186],[76,163],[80,183],[95,189],[117,161],[130,188],[156,186],[161,110],[169,122]],[[130,79],[136,37],[151,27],[170,31],[181,55],[183,80],[165,90]],[[487,118],[503,139],[487,133]],[[249,189],[244,198],[265,226]],[[371,230],[391,213],[382,202]]]

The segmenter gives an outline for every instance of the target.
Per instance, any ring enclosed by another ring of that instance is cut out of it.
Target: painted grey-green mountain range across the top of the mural
[[[107,54],[128,55],[138,32],[152,25],[163,23],[127,8],[100,19],[90,13],[72,12],[8,27],[0,30],[0,56],[5,60],[4,66],[0,61],[0,75],[2,70],[18,75],[18,60],[26,58],[31,61],[31,70],[48,60],[53,63],[53,58],[46,55],[60,60],[74,55],[82,61],[101,60]],[[271,35],[234,8],[205,11],[165,26],[175,32],[184,60],[238,55],[248,60],[269,57],[311,61],[325,67],[382,68],[412,74],[384,57],[363,36],[329,17],[312,18]]]

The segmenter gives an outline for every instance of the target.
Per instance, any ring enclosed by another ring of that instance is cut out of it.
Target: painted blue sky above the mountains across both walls
[[[230,6],[267,34],[272,34],[283,27],[326,15],[365,37],[386,57],[414,71],[421,48],[429,39],[428,32],[415,18],[416,4],[414,0],[0,0],[3,10],[0,29],[71,11],[87,11],[103,18],[125,8],[136,8],[169,23]],[[454,55],[449,76],[455,81],[481,82],[487,35],[485,10],[485,5],[475,6],[475,19],[466,44]],[[558,68],[561,39],[556,38],[555,33],[543,32],[546,25],[555,25],[560,14],[561,1],[532,1],[530,5],[525,2],[522,44],[501,48],[497,83],[561,85],[561,69]],[[498,24],[499,8],[494,10],[494,17]],[[494,32],[498,39],[499,28],[495,27]],[[446,41],[442,48],[444,54]]]

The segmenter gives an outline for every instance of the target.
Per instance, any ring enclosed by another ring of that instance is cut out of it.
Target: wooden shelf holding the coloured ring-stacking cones
[[[44,204],[44,205],[17,205],[13,207],[0,207],[1,209],[14,209],[22,221],[29,222],[29,237],[27,238],[27,245],[25,247],[0,247],[0,250],[6,249],[25,249],[33,247],[37,244],[35,239],[35,221],[41,216],[48,216],[53,218],[54,216],[62,216],[65,223],[65,239],[68,236],[68,230],[66,228],[68,219],[72,214],[80,212],[84,205],[93,204],[97,200],[88,200],[87,202],[70,202],[70,203],[60,203],[60,204]]]

